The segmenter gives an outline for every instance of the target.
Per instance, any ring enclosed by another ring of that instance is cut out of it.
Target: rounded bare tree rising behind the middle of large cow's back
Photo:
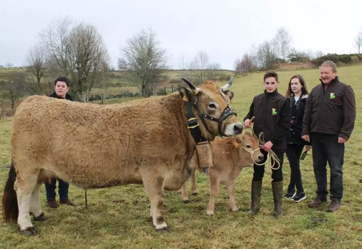
[[[160,47],[157,35],[152,30],[142,30],[126,40],[118,58],[118,67],[127,70],[130,80],[138,87],[142,97],[149,97],[167,68],[168,55]]]

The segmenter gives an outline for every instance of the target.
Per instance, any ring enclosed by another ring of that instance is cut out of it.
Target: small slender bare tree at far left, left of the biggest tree
[[[28,68],[35,79],[31,79],[30,88],[39,95],[47,92],[47,84],[42,81],[47,69],[47,52],[44,46],[36,44],[31,47],[27,59]]]

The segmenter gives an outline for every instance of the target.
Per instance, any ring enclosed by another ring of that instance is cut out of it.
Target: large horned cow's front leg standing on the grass
[[[168,232],[169,227],[161,211],[163,207],[163,186],[165,184],[165,178],[159,175],[157,176],[157,174],[150,169],[142,173],[142,181],[151,204],[150,213],[152,214],[150,214],[150,216],[153,218],[153,225],[158,232]]]

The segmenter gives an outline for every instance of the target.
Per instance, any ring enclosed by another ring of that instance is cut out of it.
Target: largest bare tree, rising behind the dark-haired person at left
[[[103,39],[90,24],[75,24],[69,18],[58,20],[40,34],[49,54],[49,67],[70,78],[71,94],[89,101],[101,65],[109,62]]]

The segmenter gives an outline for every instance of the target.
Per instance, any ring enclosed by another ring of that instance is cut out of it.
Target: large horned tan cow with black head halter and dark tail
[[[153,225],[168,231],[163,190],[178,190],[187,180],[196,144],[185,106],[206,140],[242,131],[220,87],[205,82],[196,88],[183,80],[191,89],[131,105],[25,99],[13,118],[12,166],[2,199],[5,221],[17,219],[24,234],[35,234],[29,212],[34,220],[45,220],[39,190],[45,178],[56,176],[85,189],[143,183]]]

